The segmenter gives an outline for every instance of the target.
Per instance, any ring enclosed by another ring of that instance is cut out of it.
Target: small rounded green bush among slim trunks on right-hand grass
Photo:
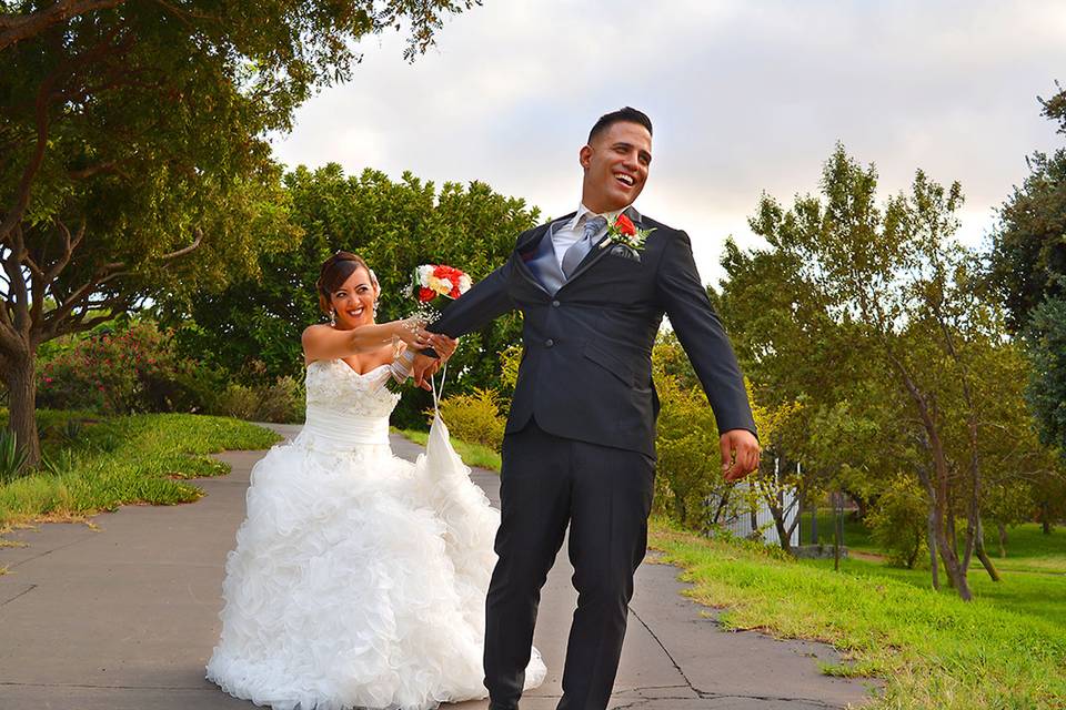
[[[891,564],[914,568],[926,549],[928,508],[925,491],[908,476],[894,478],[878,497],[867,524]]]

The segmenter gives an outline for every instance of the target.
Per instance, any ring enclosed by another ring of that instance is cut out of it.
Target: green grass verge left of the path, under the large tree
[[[62,427],[71,418],[82,420],[82,429],[78,440],[63,442]],[[229,473],[205,454],[262,449],[280,439],[245,422],[190,414],[101,417],[44,410],[39,423],[42,449],[61,470],[0,486],[0,530],[33,520],[82,519],[128,504],[197,500],[202,489],[184,479]]]

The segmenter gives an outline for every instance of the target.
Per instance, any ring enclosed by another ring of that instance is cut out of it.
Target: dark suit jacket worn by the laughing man
[[[524,351],[507,433],[535,417],[555,436],[654,457],[658,397],[651,356],[664,313],[718,430],[755,433],[736,356],[700,281],[688,235],[648,217],[637,226],[654,229],[638,254],[597,244],[554,294],[526,264],[549,225],[523,232],[507,262],[429,326],[459,337],[522,312]]]

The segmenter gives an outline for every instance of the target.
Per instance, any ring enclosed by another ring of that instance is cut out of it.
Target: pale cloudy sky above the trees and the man
[[[404,38],[364,41],[349,83],[275,141],[290,166],[481,180],[555,216],[581,196],[577,151],[622,105],[655,125],[637,207],[688,231],[704,281],[765,191],[815,191],[836,141],[876,163],[883,194],[918,168],[958,180],[978,244],[1026,174],[1066,143],[1037,97],[1066,83],[1066,2],[484,0],[413,64]]]

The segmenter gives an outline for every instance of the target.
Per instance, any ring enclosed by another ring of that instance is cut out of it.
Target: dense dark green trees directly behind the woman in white
[[[378,321],[384,322],[413,311],[409,294],[415,266],[446,263],[477,281],[507,258],[517,234],[539,217],[522,200],[483,183],[445,183],[438,190],[410,173],[399,181],[372,170],[345,176],[335,164],[315,171],[301,166],[285,176],[285,189],[303,236],[285,251],[263,253],[254,280],[191,294],[180,306],[171,302],[164,317],[180,326],[183,352],[207,353],[212,364],[232,373],[257,358],[269,377],[300,377],[300,334],[323,318],[314,282],[321,263],[336,250],[360,254],[375,271],[382,287]],[[449,366],[450,382],[460,393],[495,386],[496,354],[516,345],[520,335],[520,316],[513,314],[465,336]],[[412,390],[393,422],[424,426],[428,405],[425,393]]]

